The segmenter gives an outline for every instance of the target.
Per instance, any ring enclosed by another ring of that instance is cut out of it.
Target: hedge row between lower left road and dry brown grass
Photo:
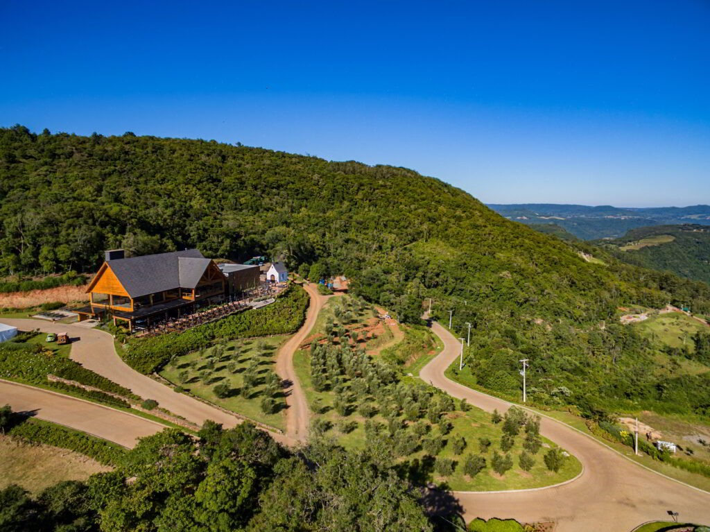
[[[126,454],[126,450],[115,443],[99,440],[61,425],[33,419],[18,423],[8,434],[28,443],[44,443],[80,452],[105,465],[119,465]]]

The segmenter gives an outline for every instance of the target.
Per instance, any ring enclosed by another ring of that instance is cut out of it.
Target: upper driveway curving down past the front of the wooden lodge
[[[224,428],[232,428],[241,423],[240,418],[214,408],[197,399],[186,396],[184,393],[175,393],[173,389],[150,377],[138,373],[126,364],[114,349],[114,338],[108,332],[89,329],[80,325],[66,325],[50,323],[40,320],[3,318],[0,323],[13,325],[20,330],[39,329],[42,332],[66,331],[72,339],[71,359],[79,362],[87,369],[130,389],[144,399],[154,399],[158,404],[170,412],[202,425],[205,420],[211,419],[222,423]],[[72,426],[72,425],[70,425]],[[293,440],[285,435],[269,434],[274,440],[286,445],[293,444]]]

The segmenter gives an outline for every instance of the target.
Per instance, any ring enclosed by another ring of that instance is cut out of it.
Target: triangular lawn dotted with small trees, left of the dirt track
[[[208,359],[212,357],[217,346],[205,349],[204,352],[192,352],[184,357],[175,359],[175,364],[168,364],[160,371],[160,375],[168,381],[182,386],[193,395],[207,399],[214,404],[222,406],[232,412],[241,414],[275,428],[285,428],[285,399],[282,392],[274,396],[277,403],[275,413],[266,414],[261,410],[261,399],[266,396],[264,377],[273,370],[274,357],[278,347],[288,340],[288,336],[264,337],[258,340],[238,340],[226,344],[226,349],[213,370],[207,367]],[[258,345],[263,343],[263,354],[259,354]],[[244,373],[252,364],[256,364],[258,379],[256,386],[244,397],[241,389],[244,387]],[[229,371],[232,367],[234,372]],[[209,371],[209,378],[204,381],[200,375]],[[185,374],[186,380],[180,379],[180,374]],[[219,398],[214,394],[214,387],[218,384],[227,384],[230,388],[229,396]]]

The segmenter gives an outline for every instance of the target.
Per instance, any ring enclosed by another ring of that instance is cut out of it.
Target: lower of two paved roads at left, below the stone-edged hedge
[[[129,449],[136,446],[138,438],[165,428],[162,423],[97,403],[0,380],[0,405],[4,404],[14,412],[31,412],[35,418],[82,430]]]

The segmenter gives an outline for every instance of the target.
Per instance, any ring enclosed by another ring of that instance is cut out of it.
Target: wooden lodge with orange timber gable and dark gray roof
[[[91,302],[75,312],[80,321],[108,315],[133,331],[219,303],[226,292],[226,276],[197,249],[128,258],[116,249],[87,287]]]

